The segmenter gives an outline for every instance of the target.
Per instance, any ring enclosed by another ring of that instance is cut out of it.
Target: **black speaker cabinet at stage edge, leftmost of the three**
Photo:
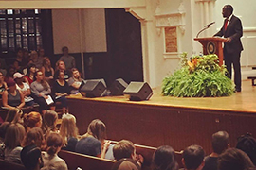
[[[79,92],[85,97],[100,97],[106,93],[104,79],[90,79],[82,81]]]

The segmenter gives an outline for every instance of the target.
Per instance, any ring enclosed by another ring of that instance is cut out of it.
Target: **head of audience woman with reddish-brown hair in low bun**
[[[63,146],[63,139],[59,133],[51,132],[46,138],[46,151],[49,155],[55,155]]]

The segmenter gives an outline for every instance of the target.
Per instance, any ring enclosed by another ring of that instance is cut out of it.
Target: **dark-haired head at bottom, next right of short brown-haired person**
[[[174,149],[171,146],[163,145],[155,150],[153,170],[178,170]]]

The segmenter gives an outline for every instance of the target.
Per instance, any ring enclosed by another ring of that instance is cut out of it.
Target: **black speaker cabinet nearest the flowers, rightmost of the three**
[[[146,82],[131,82],[123,91],[124,94],[130,95],[130,100],[141,101],[149,100],[153,95],[152,89]]]

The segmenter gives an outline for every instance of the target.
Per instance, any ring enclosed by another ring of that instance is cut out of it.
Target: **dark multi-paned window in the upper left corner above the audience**
[[[0,10],[0,50],[3,54],[42,46],[41,10]]]

